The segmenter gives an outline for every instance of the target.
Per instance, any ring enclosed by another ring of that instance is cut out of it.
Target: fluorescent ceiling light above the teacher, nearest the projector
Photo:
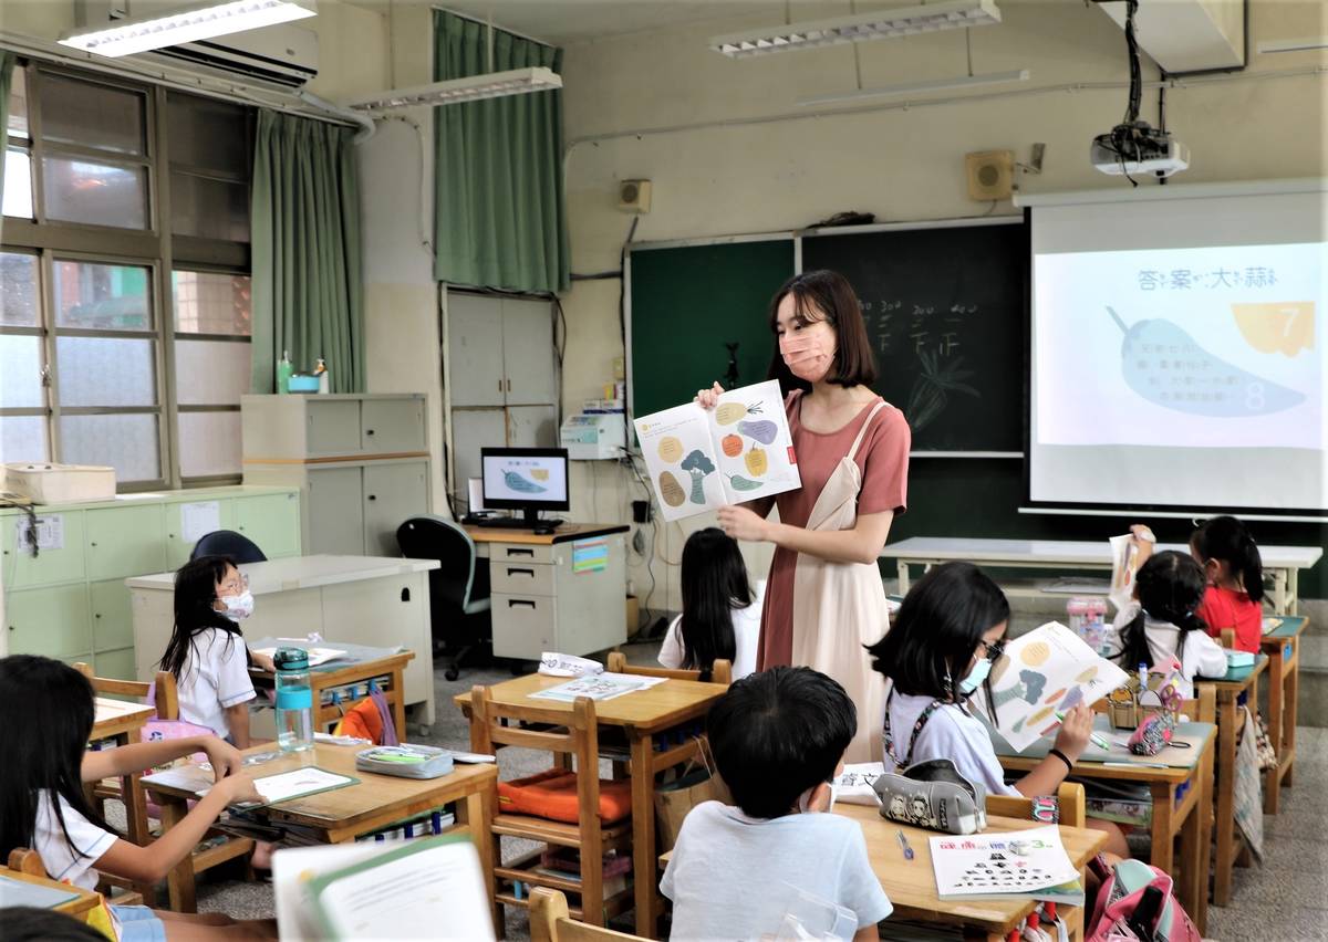
[[[716,36],[710,49],[732,58],[762,56],[791,49],[883,40],[896,36],[918,36],[939,29],[991,27],[1000,23],[1000,11],[993,0],[947,0],[924,7],[896,7],[871,13],[841,16],[833,20],[809,20],[782,24],[765,29]]]

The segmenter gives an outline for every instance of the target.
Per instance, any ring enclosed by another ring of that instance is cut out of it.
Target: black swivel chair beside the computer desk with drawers
[[[444,677],[456,681],[466,658],[493,642],[489,567],[477,559],[470,535],[446,517],[410,517],[397,528],[397,545],[402,556],[442,564],[429,573],[429,618],[434,653],[452,653]]]

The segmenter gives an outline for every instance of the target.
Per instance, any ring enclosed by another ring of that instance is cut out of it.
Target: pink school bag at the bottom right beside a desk
[[[1171,877],[1139,860],[1089,866],[1102,881],[1085,942],[1203,942],[1171,893]]]

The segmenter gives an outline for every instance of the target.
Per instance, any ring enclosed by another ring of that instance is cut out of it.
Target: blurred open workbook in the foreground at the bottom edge
[[[494,938],[479,854],[462,836],[279,849],[272,885],[287,942]]]

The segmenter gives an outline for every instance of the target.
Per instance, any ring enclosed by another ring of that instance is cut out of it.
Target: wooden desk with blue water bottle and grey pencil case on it
[[[272,746],[255,746],[246,755],[271,751]],[[361,746],[325,746],[315,743],[307,752],[283,755],[260,766],[246,767],[256,777],[287,772],[304,766],[317,766],[329,772],[349,775],[359,784],[291,799],[254,812],[274,825],[292,824],[311,829],[327,844],[347,844],[356,836],[378,831],[404,817],[424,813],[444,804],[457,803],[457,828],[469,832],[479,852],[479,862],[493,866],[493,840],[486,821],[493,815],[498,770],[490,764],[461,766],[441,779],[398,779],[390,775],[361,772],[355,767],[355,754]],[[143,787],[162,809],[162,829],[175,827],[189,812],[197,789],[212,783],[212,774],[199,766],[182,766],[143,779]],[[166,877],[171,909],[178,913],[197,910],[194,897],[194,864],[186,857]],[[501,926],[497,927],[501,931]]]

